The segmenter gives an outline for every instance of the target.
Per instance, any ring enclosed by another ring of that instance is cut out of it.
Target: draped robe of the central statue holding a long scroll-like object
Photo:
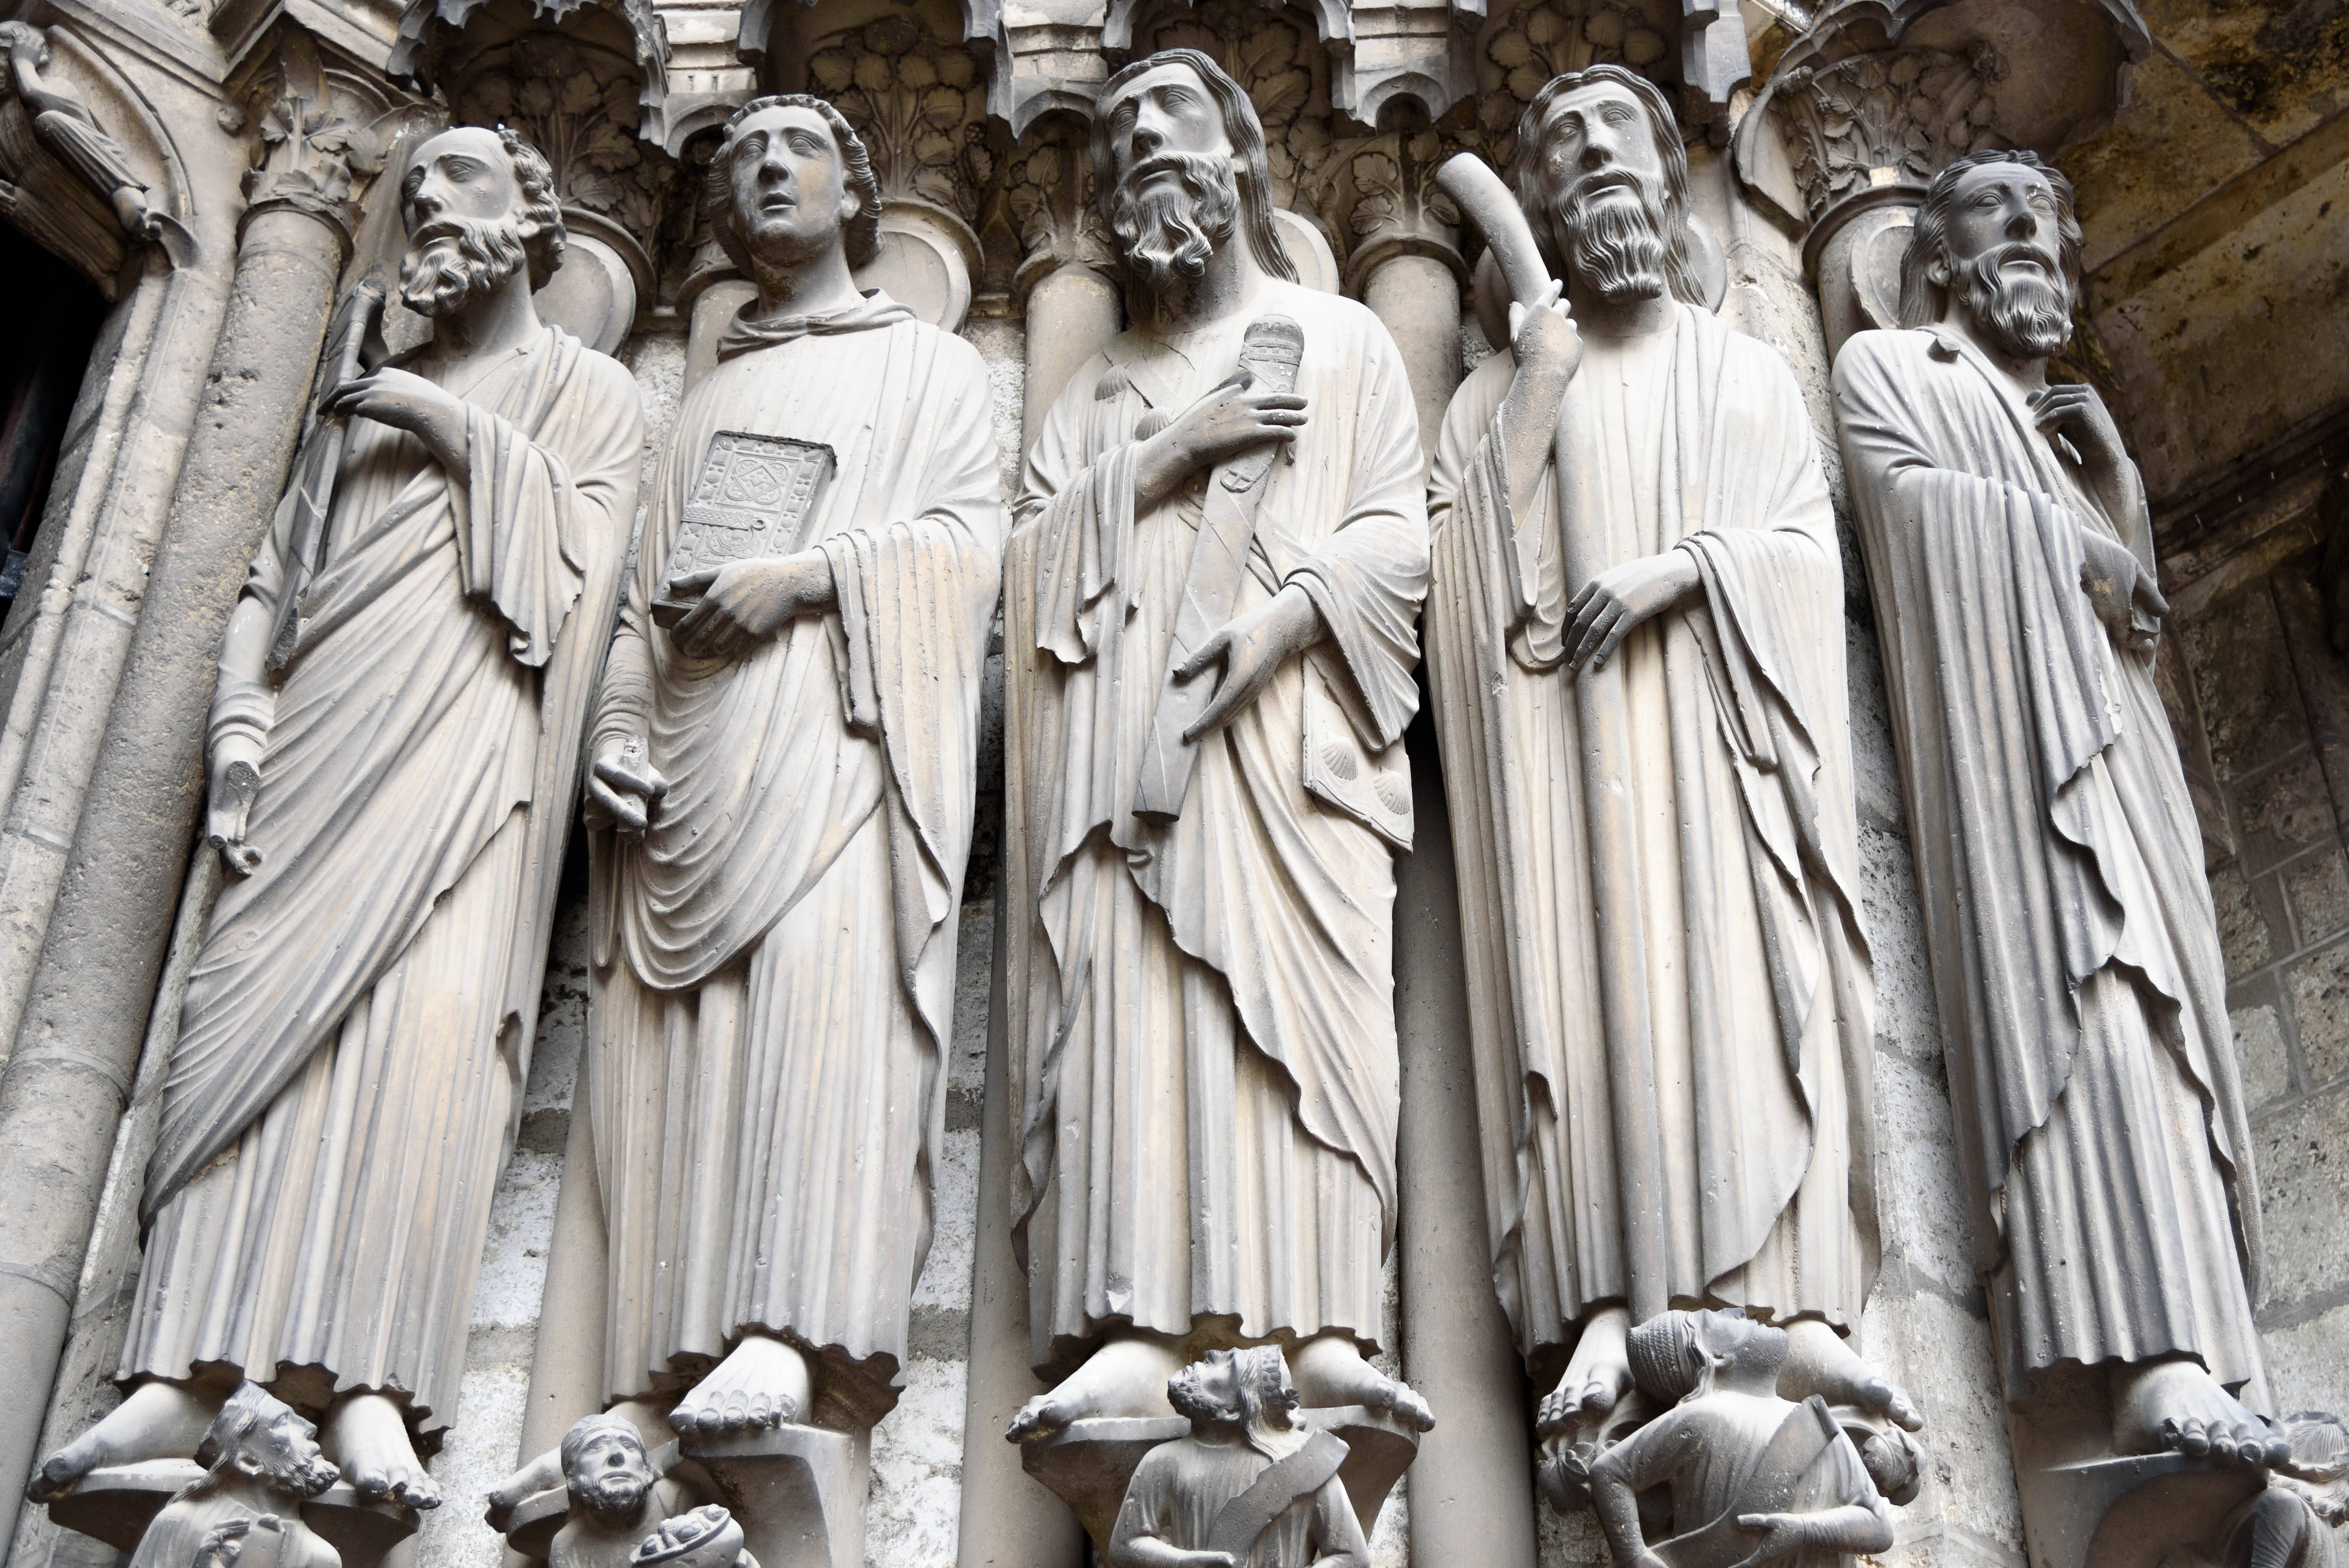
[[[1330,636],[1200,742],[1156,826],[1135,784],[1207,477],[1137,509],[1135,427],[1231,376],[1264,315],[1304,329],[1311,423],[1271,467],[1233,613],[1294,582]],[[1045,418],[1003,608],[1012,1181],[1045,1376],[1120,1324],[1377,1345],[1423,592],[1412,390],[1353,300],[1264,279],[1229,322],[1120,333]]]

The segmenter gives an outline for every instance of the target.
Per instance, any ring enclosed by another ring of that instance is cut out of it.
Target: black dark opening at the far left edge
[[[66,420],[106,322],[89,282],[14,228],[0,225],[0,279],[28,310],[0,333],[0,620],[14,608],[26,556],[49,505]]]

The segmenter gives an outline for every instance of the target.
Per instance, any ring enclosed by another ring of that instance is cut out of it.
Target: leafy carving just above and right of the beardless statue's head
[[[926,202],[977,223],[996,174],[987,82],[958,42],[911,16],[832,33],[808,56],[808,87],[864,138],[883,200]]]

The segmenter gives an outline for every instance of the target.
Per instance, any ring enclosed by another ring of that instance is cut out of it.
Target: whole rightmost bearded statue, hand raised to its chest
[[[1957,160],[1907,326],[1844,345],[1835,401],[2006,1397],[2065,1371],[2112,1453],[2264,1467],[2290,1439],[2255,1408],[2260,1183],[2152,519],[2102,399],[2046,378],[2079,265],[2060,171]]]

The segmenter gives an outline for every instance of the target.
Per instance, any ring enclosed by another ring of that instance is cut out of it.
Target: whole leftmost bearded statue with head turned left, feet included
[[[362,1498],[439,1500],[418,1453],[456,1413],[644,415],[531,307],[564,246],[538,150],[444,131],[399,202],[435,336],[327,399],[228,622],[233,876],[148,1167],[132,1390],[35,1498],[195,1453],[251,1373]]]

